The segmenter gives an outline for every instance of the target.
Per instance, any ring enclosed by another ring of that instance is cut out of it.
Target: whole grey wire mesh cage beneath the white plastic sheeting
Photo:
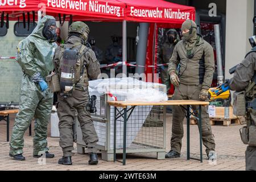
[[[114,146],[114,107],[108,105],[112,100],[107,94],[97,97],[97,112],[92,115],[94,127],[98,135],[97,149],[101,151],[103,160],[113,160]],[[118,96],[117,100],[125,100]],[[122,108],[117,107],[119,111]],[[164,106],[127,106],[126,152],[157,152],[158,159],[164,159],[166,118]],[[79,125],[77,125],[79,126]],[[82,140],[81,129],[77,128],[77,152],[84,153],[85,143]],[[123,118],[116,121],[116,148],[122,153],[123,148]]]

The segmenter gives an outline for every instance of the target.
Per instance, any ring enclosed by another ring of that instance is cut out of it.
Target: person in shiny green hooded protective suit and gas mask
[[[56,22],[53,16],[44,16],[31,35],[22,40],[16,52],[23,71],[20,84],[19,113],[16,115],[13,134],[10,140],[10,157],[25,160],[23,154],[24,132],[35,118],[33,156],[39,158],[44,153],[46,158],[54,155],[48,152],[47,125],[52,110],[53,94],[46,83],[46,76],[54,69],[53,56],[56,41]]]

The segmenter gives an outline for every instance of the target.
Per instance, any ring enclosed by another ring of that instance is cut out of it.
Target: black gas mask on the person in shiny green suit
[[[52,26],[54,26],[54,28]],[[56,42],[57,34],[55,30],[56,30],[56,21],[54,19],[47,20],[47,22],[44,23],[43,36],[47,40],[49,40],[49,42]]]

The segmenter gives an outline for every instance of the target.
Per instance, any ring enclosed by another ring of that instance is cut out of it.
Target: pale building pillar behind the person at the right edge
[[[240,63],[250,51],[248,38],[253,35],[253,0],[226,1],[226,55],[225,78],[231,78],[229,69]]]

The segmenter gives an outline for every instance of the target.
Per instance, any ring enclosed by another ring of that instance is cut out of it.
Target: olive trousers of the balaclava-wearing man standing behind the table
[[[175,88],[174,100],[196,100],[199,101],[199,94],[201,91],[201,85],[184,85],[180,84]],[[198,109],[198,106],[192,106],[193,110]],[[202,106],[201,118],[202,118],[202,139],[203,144],[206,147],[205,152],[209,153],[211,150],[215,150],[215,142],[212,134],[212,128],[210,126],[209,114],[207,113],[207,107]],[[176,152],[181,151],[181,139],[183,138],[183,121],[186,111],[180,106],[174,106],[172,115],[172,137],[171,137],[171,150]],[[198,114],[198,112],[197,112]]]

